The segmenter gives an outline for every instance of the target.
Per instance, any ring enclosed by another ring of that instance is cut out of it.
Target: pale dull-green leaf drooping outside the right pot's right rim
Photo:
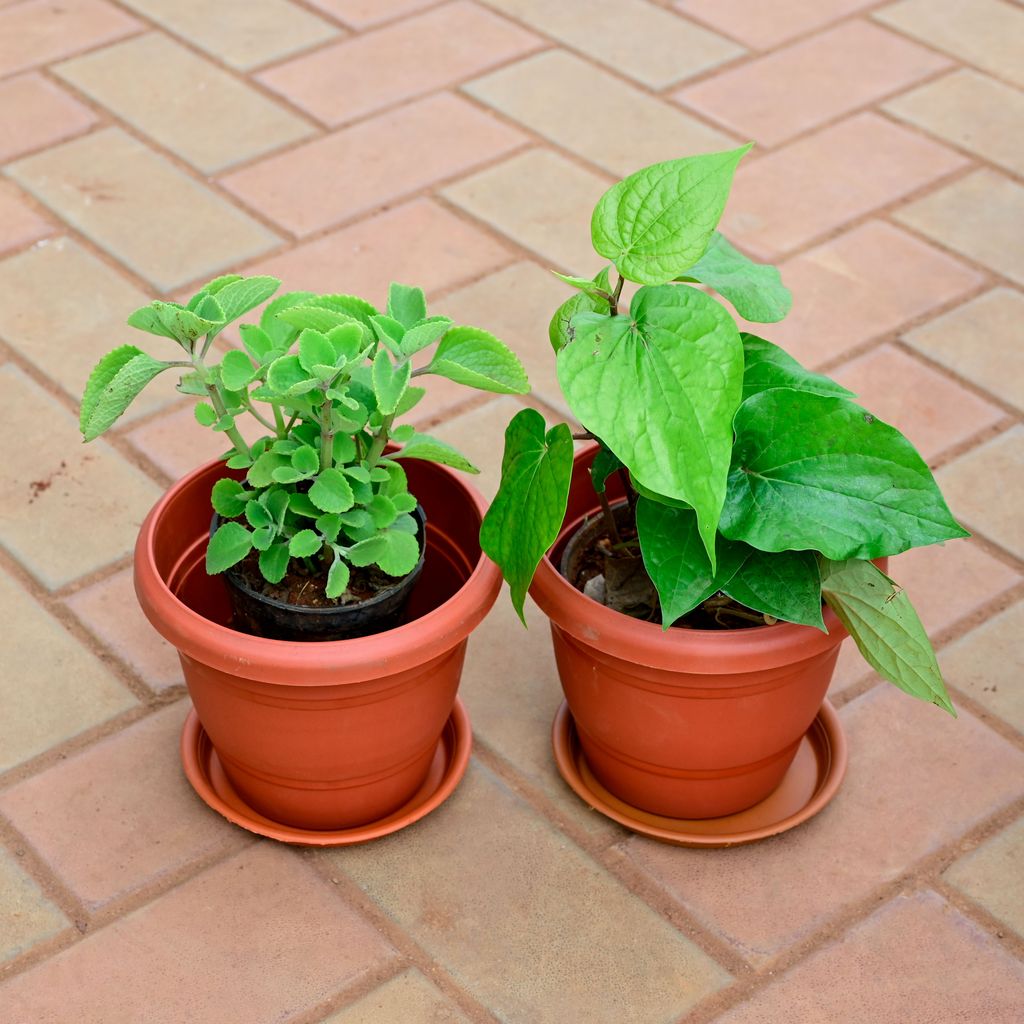
[[[880,676],[956,717],[928,634],[902,588],[869,561],[822,559],[821,592]]]

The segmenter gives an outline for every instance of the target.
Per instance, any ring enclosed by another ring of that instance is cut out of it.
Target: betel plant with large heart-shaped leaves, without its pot
[[[784,621],[824,630],[824,601],[881,675],[952,713],[916,613],[872,560],[966,531],[899,431],[741,331],[721,301],[764,324],[792,302],[777,269],[717,230],[749,148],[655,164],[598,202],[594,249],[610,262],[591,278],[558,275],[575,294],[549,332],[585,430],[549,429],[529,409],[512,420],[483,548],[521,616],[562,525],[573,438],[596,441],[604,571],[602,587],[585,593],[659,615],[665,629]],[[626,282],[640,286],[628,309]],[[614,473],[627,502],[613,510],[605,489]],[[628,559],[642,562],[646,606],[635,593],[616,601]]]

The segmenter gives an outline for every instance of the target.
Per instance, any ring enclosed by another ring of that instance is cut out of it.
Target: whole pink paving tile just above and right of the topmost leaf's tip
[[[741,135],[777,145],[948,67],[895,33],[847,22],[675,97]]]

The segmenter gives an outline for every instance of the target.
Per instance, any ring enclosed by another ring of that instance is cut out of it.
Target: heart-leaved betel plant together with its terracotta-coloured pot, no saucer
[[[480,535],[520,615],[531,587],[550,617],[586,770],[628,823],[763,801],[847,632],[880,674],[953,713],[884,559],[965,530],[906,438],[720,301],[759,323],[792,301],[716,230],[749,148],[655,164],[598,202],[611,265],[559,274],[575,294],[550,328],[585,430],[519,413]],[[626,282],[640,286],[628,309]],[[591,443],[573,456],[574,439]]]

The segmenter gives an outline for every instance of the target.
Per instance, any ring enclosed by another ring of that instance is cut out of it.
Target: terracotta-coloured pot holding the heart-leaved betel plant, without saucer
[[[788,623],[663,631],[584,596],[555,565],[597,511],[595,451],[577,455],[562,532],[530,589],[551,620],[587,762],[616,797],[653,814],[707,818],[752,807],[790,767],[846,631],[828,608],[827,635]],[[617,478],[608,493],[622,497]]]

